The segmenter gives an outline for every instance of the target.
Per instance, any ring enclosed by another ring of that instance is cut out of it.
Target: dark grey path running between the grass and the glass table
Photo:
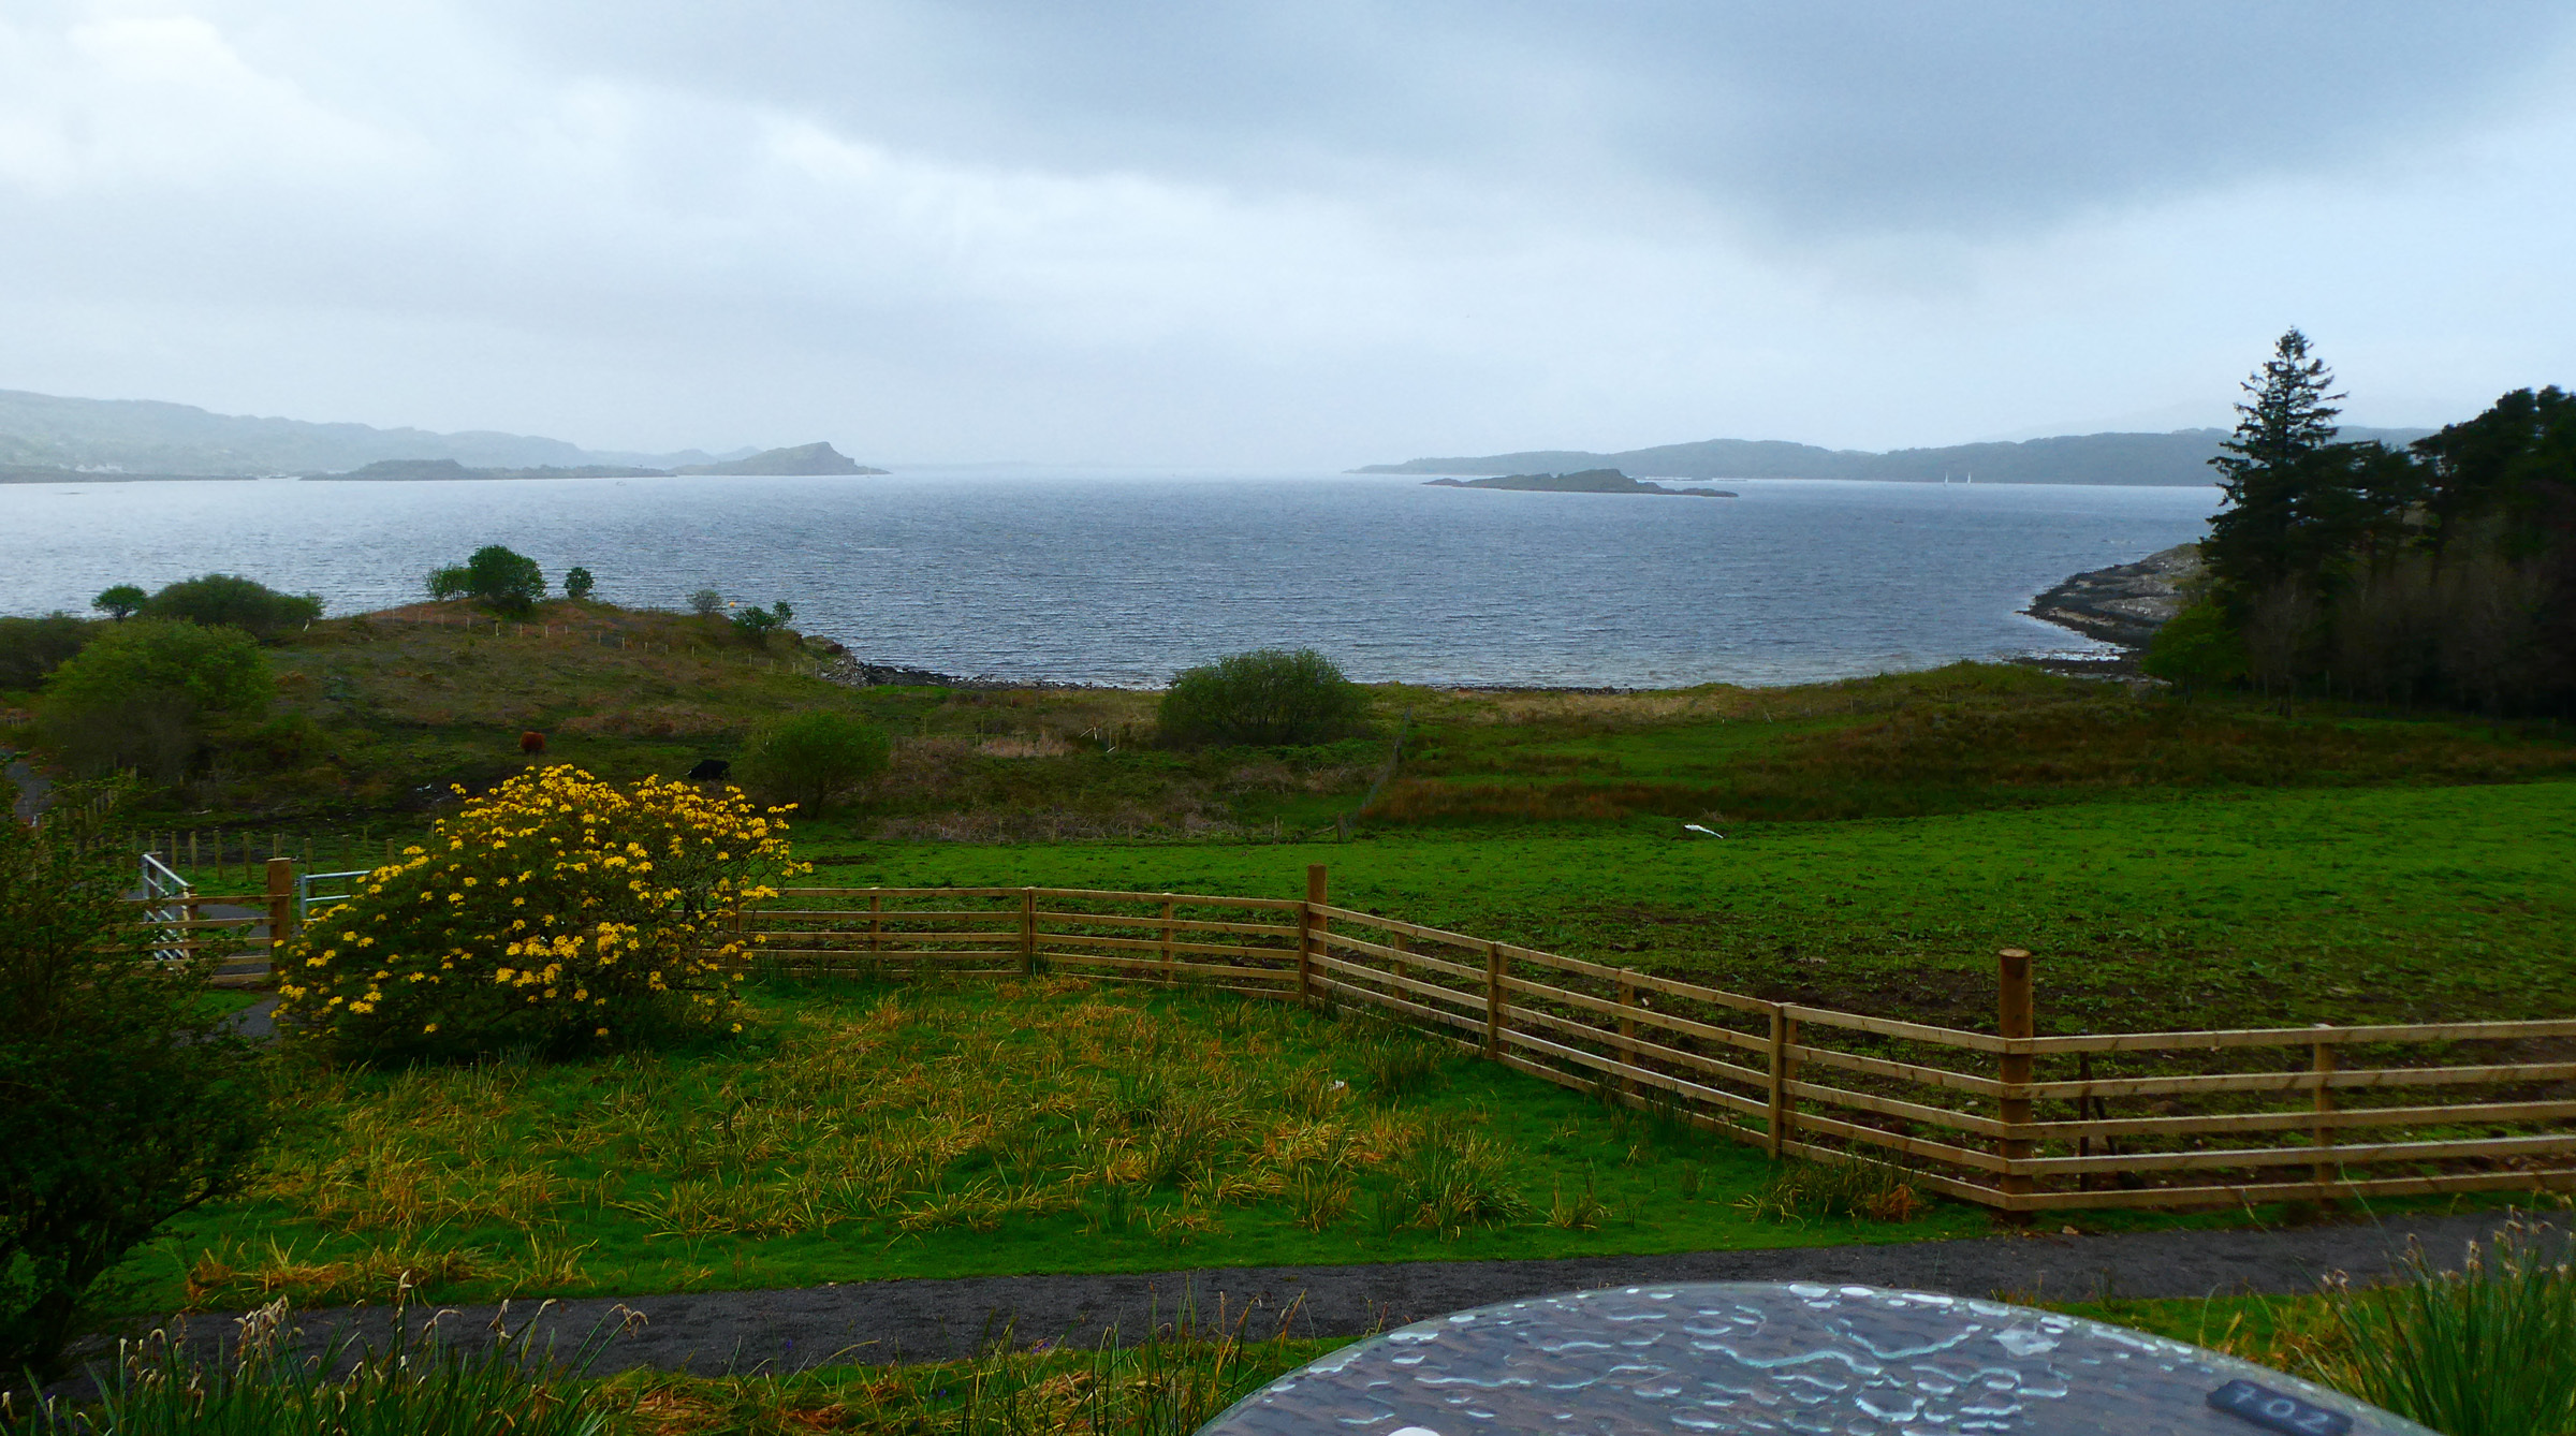
[[[2555,1217],[2555,1240],[2568,1240]],[[659,1367],[685,1372],[799,1369],[969,1356],[999,1338],[1092,1346],[1115,1330],[1139,1341],[1195,1310],[1200,1328],[1226,1325],[1249,1307],[1247,1333],[1360,1336],[1419,1318],[1584,1287],[1646,1282],[1826,1282],[1909,1287],[1965,1297],[2020,1300],[2210,1297],[2313,1292],[2347,1271],[2383,1276],[2416,1238],[2455,1266],[2470,1238],[2501,1217],[2419,1217],[2388,1225],[2298,1230],[2125,1233],[1940,1240],[1906,1246],[1821,1246],[1777,1251],[1700,1251],[1682,1256],[1597,1256],[1564,1261],[1396,1261],[1381,1266],[1224,1266],[1141,1276],[963,1276],[850,1282],[786,1292],[693,1292],[672,1297],[585,1297],[546,1312],[544,1328],[569,1351],[613,1325],[621,1305],[644,1323],[613,1341],[595,1372]],[[528,1305],[518,1307],[526,1315]],[[495,1307],[459,1307],[446,1330],[479,1330]],[[304,1346],[353,1330],[381,1338],[384,1310],[301,1312]],[[224,1315],[196,1318],[201,1341],[232,1330]],[[544,1338],[541,1338],[544,1341]]]

